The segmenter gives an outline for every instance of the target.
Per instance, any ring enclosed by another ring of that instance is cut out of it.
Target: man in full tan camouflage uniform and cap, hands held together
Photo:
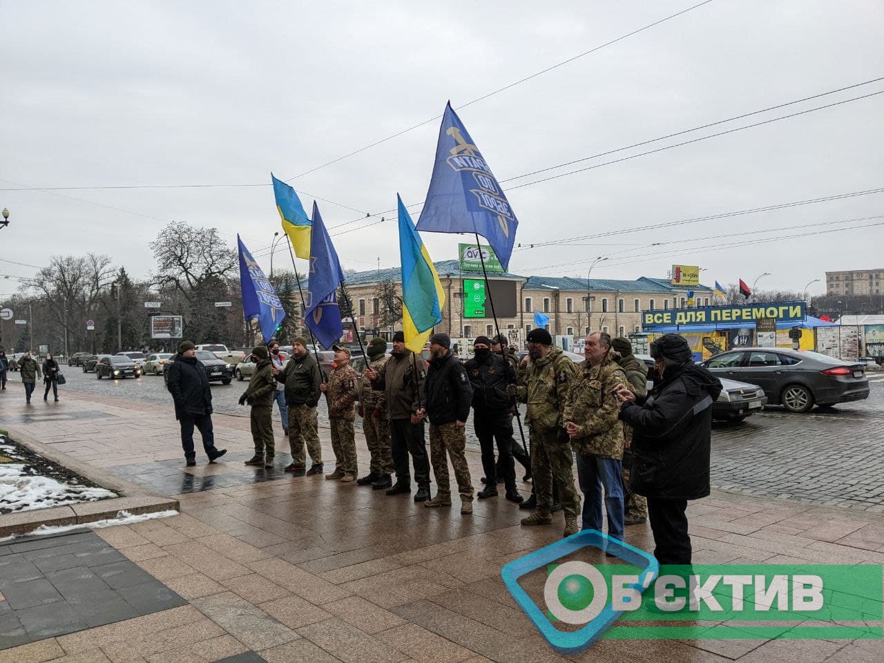
[[[328,396],[329,426],[331,428],[331,450],[334,451],[335,468],[325,475],[329,480],[340,480],[349,484],[356,480],[356,442],[353,421],[356,415],[353,404],[356,402],[356,371],[350,365],[350,348],[334,346],[334,369],[329,381],[319,385]]]

